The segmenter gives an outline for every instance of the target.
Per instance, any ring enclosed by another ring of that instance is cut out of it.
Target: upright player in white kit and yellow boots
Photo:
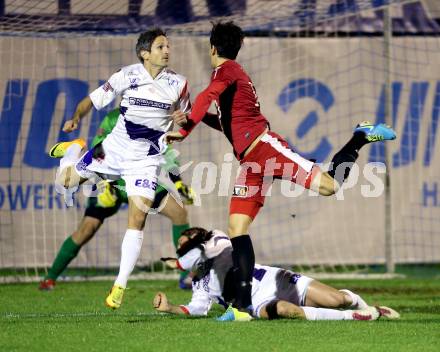
[[[166,33],[155,28],[142,33],[136,44],[141,63],[123,67],[106,83],[90,93],[77,106],[63,131],[78,128],[91,109],[101,109],[121,96],[120,115],[112,132],[82,156],[82,140],[57,143],[50,155],[63,155],[57,172],[57,188],[71,197],[72,190],[85,180],[121,177],[128,195],[128,226],[122,241],[119,274],[105,300],[119,308],[127,280],[140,254],[143,229],[154,200],[160,165],[164,163],[164,133],[173,124],[176,110],[189,112],[188,84],[185,77],[167,68],[169,42]]]

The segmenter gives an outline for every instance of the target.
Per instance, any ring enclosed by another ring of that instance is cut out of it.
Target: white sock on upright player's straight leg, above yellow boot
[[[128,277],[136,265],[142,248],[144,232],[128,229],[125,232],[121,246],[121,264],[119,265],[119,274],[115,285],[127,287]]]

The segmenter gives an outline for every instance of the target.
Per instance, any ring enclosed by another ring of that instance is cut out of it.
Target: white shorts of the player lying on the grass
[[[282,269],[258,265],[255,266],[255,269],[252,281],[254,316],[260,317],[261,308],[275,299],[286,300],[298,306],[305,305],[307,289],[313,281],[312,278],[283,270],[288,274],[289,282],[286,285],[286,282],[280,282],[279,273]]]

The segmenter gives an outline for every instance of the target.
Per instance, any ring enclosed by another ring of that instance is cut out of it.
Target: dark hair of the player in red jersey
[[[235,60],[243,38],[243,31],[234,22],[217,22],[212,26],[209,41],[217,49],[218,56]]]

